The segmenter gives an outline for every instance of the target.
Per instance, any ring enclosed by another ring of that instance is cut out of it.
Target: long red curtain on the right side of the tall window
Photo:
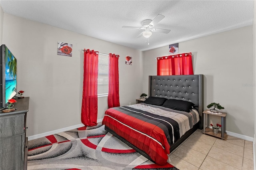
[[[119,107],[119,73],[118,58],[119,55],[109,54],[108,69],[108,108]]]

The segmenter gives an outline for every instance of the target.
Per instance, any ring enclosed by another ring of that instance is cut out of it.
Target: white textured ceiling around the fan
[[[5,13],[142,51],[252,25],[252,0],[1,0]],[[143,20],[165,16],[149,41],[136,38]],[[146,42],[147,41],[147,42]],[[146,42],[146,43],[145,43]]]

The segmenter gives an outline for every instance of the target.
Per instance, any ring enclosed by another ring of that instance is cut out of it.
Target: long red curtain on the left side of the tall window
[[[81,121],[86,126],[97,125],[98,115],[98,52],[84,49],[84,85]]]

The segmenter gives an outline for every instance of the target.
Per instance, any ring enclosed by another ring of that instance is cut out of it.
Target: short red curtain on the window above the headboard
[[[194,74],[191,53],[182,53],[157,58],[157,75]]]

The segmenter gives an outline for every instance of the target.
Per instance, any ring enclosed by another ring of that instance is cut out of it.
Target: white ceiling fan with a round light
[[[141,32],[137,38],[144,36],[145,38],[149,38],[152,36],[152,32],[160,32],[164,34],[168,34],[171,30],[161,29],[161,28],[153,28],[158,22],[164,19],[164,16],[158,14],[153,20],[144,20],[141,22],[141,27],[132,27],[132,26],[122,26],[122,28],[132,28],[132,29],[139,29],[145,30]]]

